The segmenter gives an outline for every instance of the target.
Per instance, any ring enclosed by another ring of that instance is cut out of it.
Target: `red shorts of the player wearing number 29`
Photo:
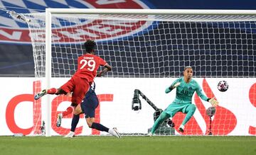
[[[89,90],[90,85],[87,79],[72,76],[72,78],[67,83],[63,84],[63,86],[60,86],[60,88],[66,93],[73,92],[71,102],[80,104],[82,103],[82,99],[85,98],[85,94]]]

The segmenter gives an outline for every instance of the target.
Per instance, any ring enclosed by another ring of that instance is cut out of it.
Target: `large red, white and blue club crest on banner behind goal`
[[[31,43],[27,23],[11,18],[4,10],[16,11],[16,13],[40,13],[44,12],[45,8],[149,8],[142,1],[131,0],[1,0],[0,6],[5,7],[0,11],[0,42],[22,44]],[[78,19],[76,22],[64,22],[65,19],[60,18],[60,21],[55,24],[55,28],[52,30],[53,41],[64,44],[65,42],[81,42],[86,39],[104,41],[125,38],[142,32],[152,23],[151,21],[138,21],[136,19],[130,22],[110,21],[104,18],[95,20]],[[43,38],[43,33],[44,31],[36,35],[39,38]]]

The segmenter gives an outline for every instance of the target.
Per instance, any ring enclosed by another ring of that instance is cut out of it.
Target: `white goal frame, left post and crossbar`
[[[196,10],[196,9],[97,9],[97,8],[46,8],[46,88],[50,88],[51,78],[51,43],[52,14],[146,14],[146,15],[256,15],[255,10]],[[51,105],[50,96],[46,96],[46,137],[50,137],[51,131]]]

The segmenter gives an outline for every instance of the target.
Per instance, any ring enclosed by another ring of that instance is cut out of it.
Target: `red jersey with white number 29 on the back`
[[[95,76],[97,76],[97,69],[106,64],[107,62],[97,55],[83,54],[81,57],[78,57],[78,70],[74,76],[80,76],[87,79],[88,82],[92,82]]]

